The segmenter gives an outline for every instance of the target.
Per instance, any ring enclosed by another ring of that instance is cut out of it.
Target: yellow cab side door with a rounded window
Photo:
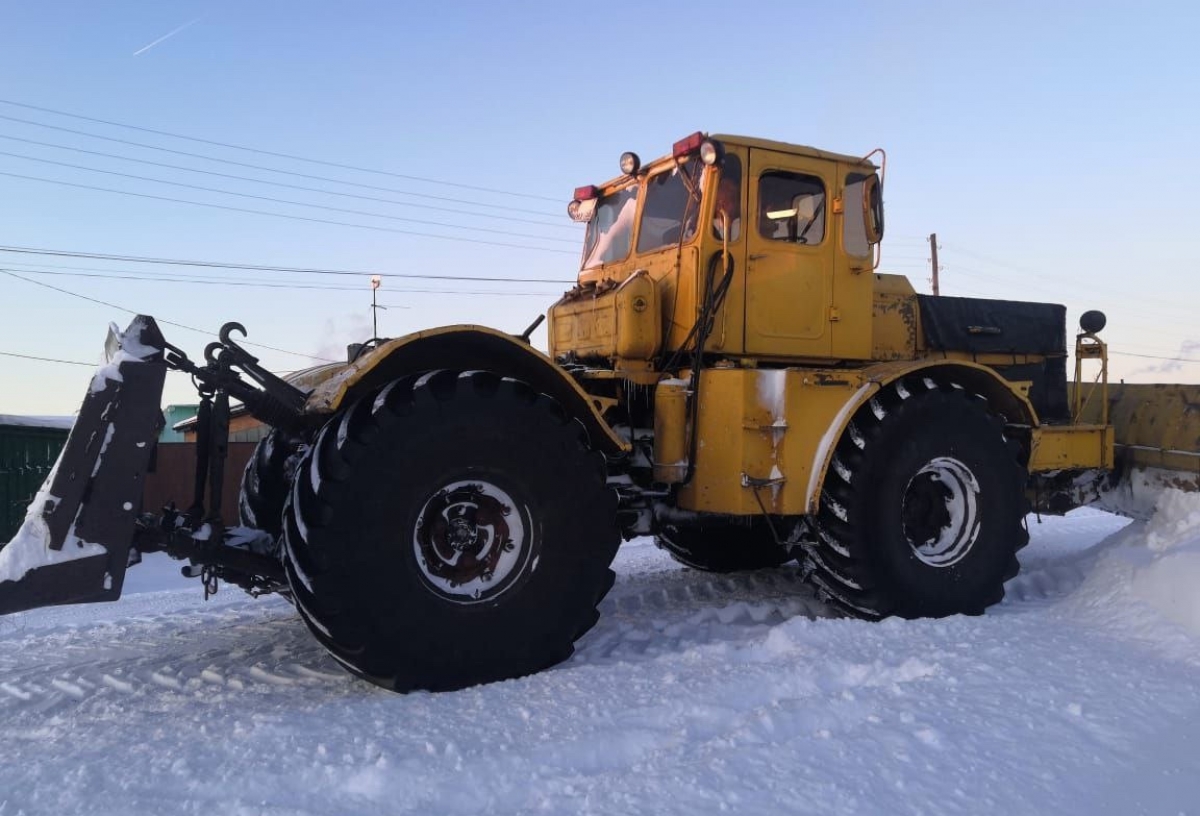
[[[833,164],[750,150],[745,350],[828,358]]]

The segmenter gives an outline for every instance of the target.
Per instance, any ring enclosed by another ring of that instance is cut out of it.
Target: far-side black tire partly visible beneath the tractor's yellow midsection
[[[725,518],[696,523],[665,522],[654,542],[674,560],[706,572],[766,570],[792,560],[762,521],[740,524]]]

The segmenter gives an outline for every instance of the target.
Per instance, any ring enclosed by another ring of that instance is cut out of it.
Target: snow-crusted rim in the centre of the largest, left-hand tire
[[[413,550],[425,586],[456,604],[482,604],[511,589],[533,557],[526,505],[480,479],[436,491],[416,517]]]

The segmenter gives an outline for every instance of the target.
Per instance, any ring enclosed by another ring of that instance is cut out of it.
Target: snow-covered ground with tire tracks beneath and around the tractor
[[[989,614],[882,624],[635,541],[571,661],[446,695],[148,559],[0,618],[0,816],[1200,812],[1200,503],[1030,523]]]

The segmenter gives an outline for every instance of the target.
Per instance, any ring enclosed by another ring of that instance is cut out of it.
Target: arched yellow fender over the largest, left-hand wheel
[[[512,335],[476,325],[452,325],[416,331],[390,340],[354,362],[330,372],[305,403],[305,413],[334,414],[361,395],[406,374],[452,368],[490,371],[527,383],[558,401],[578,419],[592,444],[607,455],[629,450],[604,420],[604,404],[580,388],[575,378],[548,356]]]

